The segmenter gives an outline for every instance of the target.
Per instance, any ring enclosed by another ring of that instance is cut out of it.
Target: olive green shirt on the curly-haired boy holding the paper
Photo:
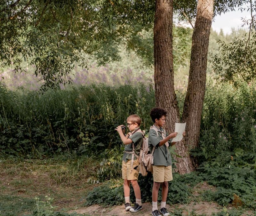
[[[156,130],[158,130],[156,128]],[[161,132],[164,131],[162,127],[160,127],[158,131],[158,136],[156,134],[156,131],[154,129],[149,130],[148,134],[148,146],[150,151],[152,152],[153,147],[155,148],[153,157],[154,157],[154,166],[170,166],[172,165],[172,157],[169,152],[169,148],[166,147],[166,145],[158,146],[161,140],[163,140],[163,136]],[[166,136],[168,136],[168,133],[166,133]],[[169,146],[171,146],[172,139],[168,140]]]

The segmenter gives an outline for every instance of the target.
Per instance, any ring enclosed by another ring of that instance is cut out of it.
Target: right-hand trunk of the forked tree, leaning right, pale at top
[[[196,148],[199,142],[213,4],[214,0],[198,0],[197,4],[196,23],[192,36],[188,89],[182,114],[182,122],[187,122],[185,142],[188,151],[191,148]],[[195,168],[197,163],[194,159],[192,160]]]

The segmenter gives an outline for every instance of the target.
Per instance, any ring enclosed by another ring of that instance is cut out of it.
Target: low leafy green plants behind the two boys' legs
[[[119,178],[120,179],[120,178]],[[167,203],[187,203],[188,197],[191,195],[192,188],[202,180],[197,172],[192,172],[186,175],[173,173],[173,180],[169,182],[169,190]],[[139,175],[138,183],[141,191],[142,202],[152,201],[153,176],[150,173],[146,177]],[[159,189],[158,200],[161,201],[162,188]],[[131,186],[130,190],[131,202],[135,202],[134,191]],[[123,180],[113,184],[109,181],[108,184],[93,188],[86,197],[86,205],[103,204],[116,205],[124,203]]]

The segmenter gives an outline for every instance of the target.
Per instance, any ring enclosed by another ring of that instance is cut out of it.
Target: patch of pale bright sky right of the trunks
[[[217,31],[218,33],[220,32],[220,29],[222,29],[224,34],[229,34],[231,33],[232,28],[242,28],[242,17],[246,17],[246,19],[250,18],[250,12],[241,12],[239,10],[236,10],[218,15],[214,18],[212,22],[212,29]]]

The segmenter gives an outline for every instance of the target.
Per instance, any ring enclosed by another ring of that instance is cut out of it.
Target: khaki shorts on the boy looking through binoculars
[[[122,178],[127,179],[127,180],[138,180],[139,177],[139,172],[137,170],[132,169],[135,166],[139,165],[139,160],[136,159],[133,161],[132,165],[132,160],[128,160],[127,162],[122,161]],[[132,169],[132,172],[131,172]]]

